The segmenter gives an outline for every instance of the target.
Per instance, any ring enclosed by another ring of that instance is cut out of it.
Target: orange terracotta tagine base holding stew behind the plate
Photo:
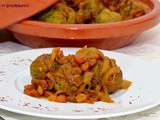
[[[157,25],[160,17],[158,0],[143,0],[152,11],[142,17],[107,24],[51,24],[25,20],[8,29],[23,44],[31,47],[84,45],[116,49],[132,43],[142,32]]]

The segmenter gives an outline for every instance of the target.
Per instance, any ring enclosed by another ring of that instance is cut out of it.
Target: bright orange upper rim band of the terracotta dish
[[[129,28],[129,34],[134,34],[137,32],[143,32],[146,29],[149,29],[156,24],[160,22],[160,2],[158,0],[149,0],[152,5],[153,9],[148,14],[121,22],[114,22],[114,23],[102,23],[102,24],[53,24],[53,23],[47,23],[47,22],[41,22],[41,21],[35,21],[35,20],[25,20],[20,23],[14,24],[10,27],[8,27],[9,30],[20,33],[20,34],[26,34],[26,35],[32,35],[37,37],[51,37],[51,38],[62,38],[62,39],[85,39],[87,36],[89,39],[99,38],[96,35],[91,35],[93,32],[92,30],[96,31],[98,29],[100,30],[106,30],[106,29],[115,29],[118,31],[118,29],[124,29]],[[141,28],[142,25],[146,24],[145,28]],[[136,26],[140,26],[139,28],[135,28]],[[33,28],[34,32],[31,32],[31,27]],[[133,30],[132,30],[132,27]],[[22,31],[22,29],[24,31]],[[45,29],[43,32],[36,31],[39,29]],[[55,34],[47,33],[47,30],[54,30]],[[88,33],[85,33],[85,35],[79,35],[80,32],[85,32],[89,30]],[[106,31],[107,32],[107,31]],[[109,31],[110,32],[110,31]],[[39,33],[39,34],[38,34]],[[71,35],[68,35],[71,34]],[[73,35],[72,35],[73,34]],[[109,33],[110,34],[110,33]],[[119,33],[117,36],[121,36],[122,33]],[[111,33],[110,35],[113,35]],[[127,35],[127,33],[124,33],[124,35]],[[73,36],[73,38],[72,38]],[[117,37],[116,36],[116,37]],[[102,35],[102,37],[106,37],[106,35]]]

